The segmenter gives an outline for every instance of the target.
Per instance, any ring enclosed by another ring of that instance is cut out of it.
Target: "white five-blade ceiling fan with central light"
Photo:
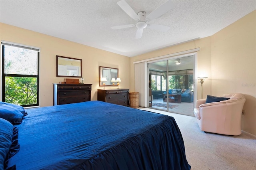
[[[152,11],[148,16],[146,16],[146,12],[140,11],[136,14],[134,10],[127,4],[126,1],[121,0],[118,1],[117,4],[130,16],[132,19],[136,21],[136,24],[128,24],[128,25],[122,25],[122,26],[112,26],[110,28],[117,30],[117,29],[122,29],[122,28],[130,28],[136,26],[137,32],[136,32],[136,38],[141,38],[143,29],[144,28],[150,28],[153,30],[158,30],[162,32],[167,32],[170,27],[168,26],[163,26],[159,24],[149,24],[150,21],[162,16],[164,13],[166,13],[168,10],[174,7],[174,3],[171,0],[168,0],[158,8],[156,8],[154,11]]]

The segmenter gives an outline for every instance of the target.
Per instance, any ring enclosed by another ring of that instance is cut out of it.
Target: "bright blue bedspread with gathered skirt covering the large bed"
[[[173,117],[101,101],[22,113],[20,124],[13,126],[16,144],[12,141],[4,169],[190,169]]]

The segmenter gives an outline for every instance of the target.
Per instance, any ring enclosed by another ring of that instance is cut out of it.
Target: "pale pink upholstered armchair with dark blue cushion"
[[[228,100],[206,103],[206,99],[196,101],[194,115],[200,129],[227,135],[240,135],[241,116],[245,97],[241,93],[226,94]]]

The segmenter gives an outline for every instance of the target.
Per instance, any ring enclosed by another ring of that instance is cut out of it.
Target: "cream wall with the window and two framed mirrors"
[[[130,77],[130,57],[3,23],[0,23],[0,39],[41,48],[39,96],[41,107],[53,105],[52,83],[58,83],[65,78],[56,77],[56,55],[82,59],[82,76],[84,83],[92,84],[92,100],[97,100],[97,89],[103,88],[99,87],[99,66],[118,68],[119,77],[122,80],[119,87],[129,88],[130,86],[130,79],[127,78]],[[2,61],[0,67],[2,70]]]

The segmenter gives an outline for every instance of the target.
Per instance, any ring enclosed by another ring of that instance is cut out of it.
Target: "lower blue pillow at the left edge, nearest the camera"
[[[0,169],[4,169],[4,162],[10,150],[13,136],[13,125],[0,118]]]

